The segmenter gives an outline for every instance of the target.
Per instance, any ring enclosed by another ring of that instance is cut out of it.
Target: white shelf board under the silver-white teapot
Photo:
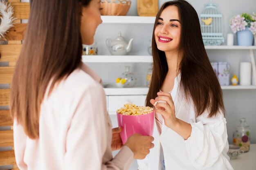
[[[82,55],[82,62],[144,62],[152,63],[151,55]]]

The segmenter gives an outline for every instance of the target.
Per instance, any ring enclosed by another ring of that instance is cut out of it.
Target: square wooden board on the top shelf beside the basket
[[[158,0],[137,0],[137,13],[139,16],[156,16]]]

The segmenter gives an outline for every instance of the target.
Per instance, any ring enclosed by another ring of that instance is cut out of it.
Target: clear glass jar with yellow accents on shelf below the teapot
[[[125,66],[126,71],[116,79],[117,87],[133,87],[137,83],[135,74],[130,72],[130,66]]]

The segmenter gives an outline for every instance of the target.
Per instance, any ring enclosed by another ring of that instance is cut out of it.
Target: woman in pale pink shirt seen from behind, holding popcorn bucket
[[[153,148],[148,136],[112,142],[101,79],[81,62],[100,10],[100,0],[33,2],[10,100],[20,170],[127,170]]]

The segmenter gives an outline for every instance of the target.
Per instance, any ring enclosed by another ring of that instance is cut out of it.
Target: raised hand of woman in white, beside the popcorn
[[[151,99],[150,103],[154,105],[156,101],[164,101],[164,103],[158,102],[155,105],[155,111],[162,115],[164,124],[167,127],[174,129],[177,124],[177,118],[175,116],[173,98],[171,97],[171,94],[167,92],[158,92],[157,95],[158,97]]]

